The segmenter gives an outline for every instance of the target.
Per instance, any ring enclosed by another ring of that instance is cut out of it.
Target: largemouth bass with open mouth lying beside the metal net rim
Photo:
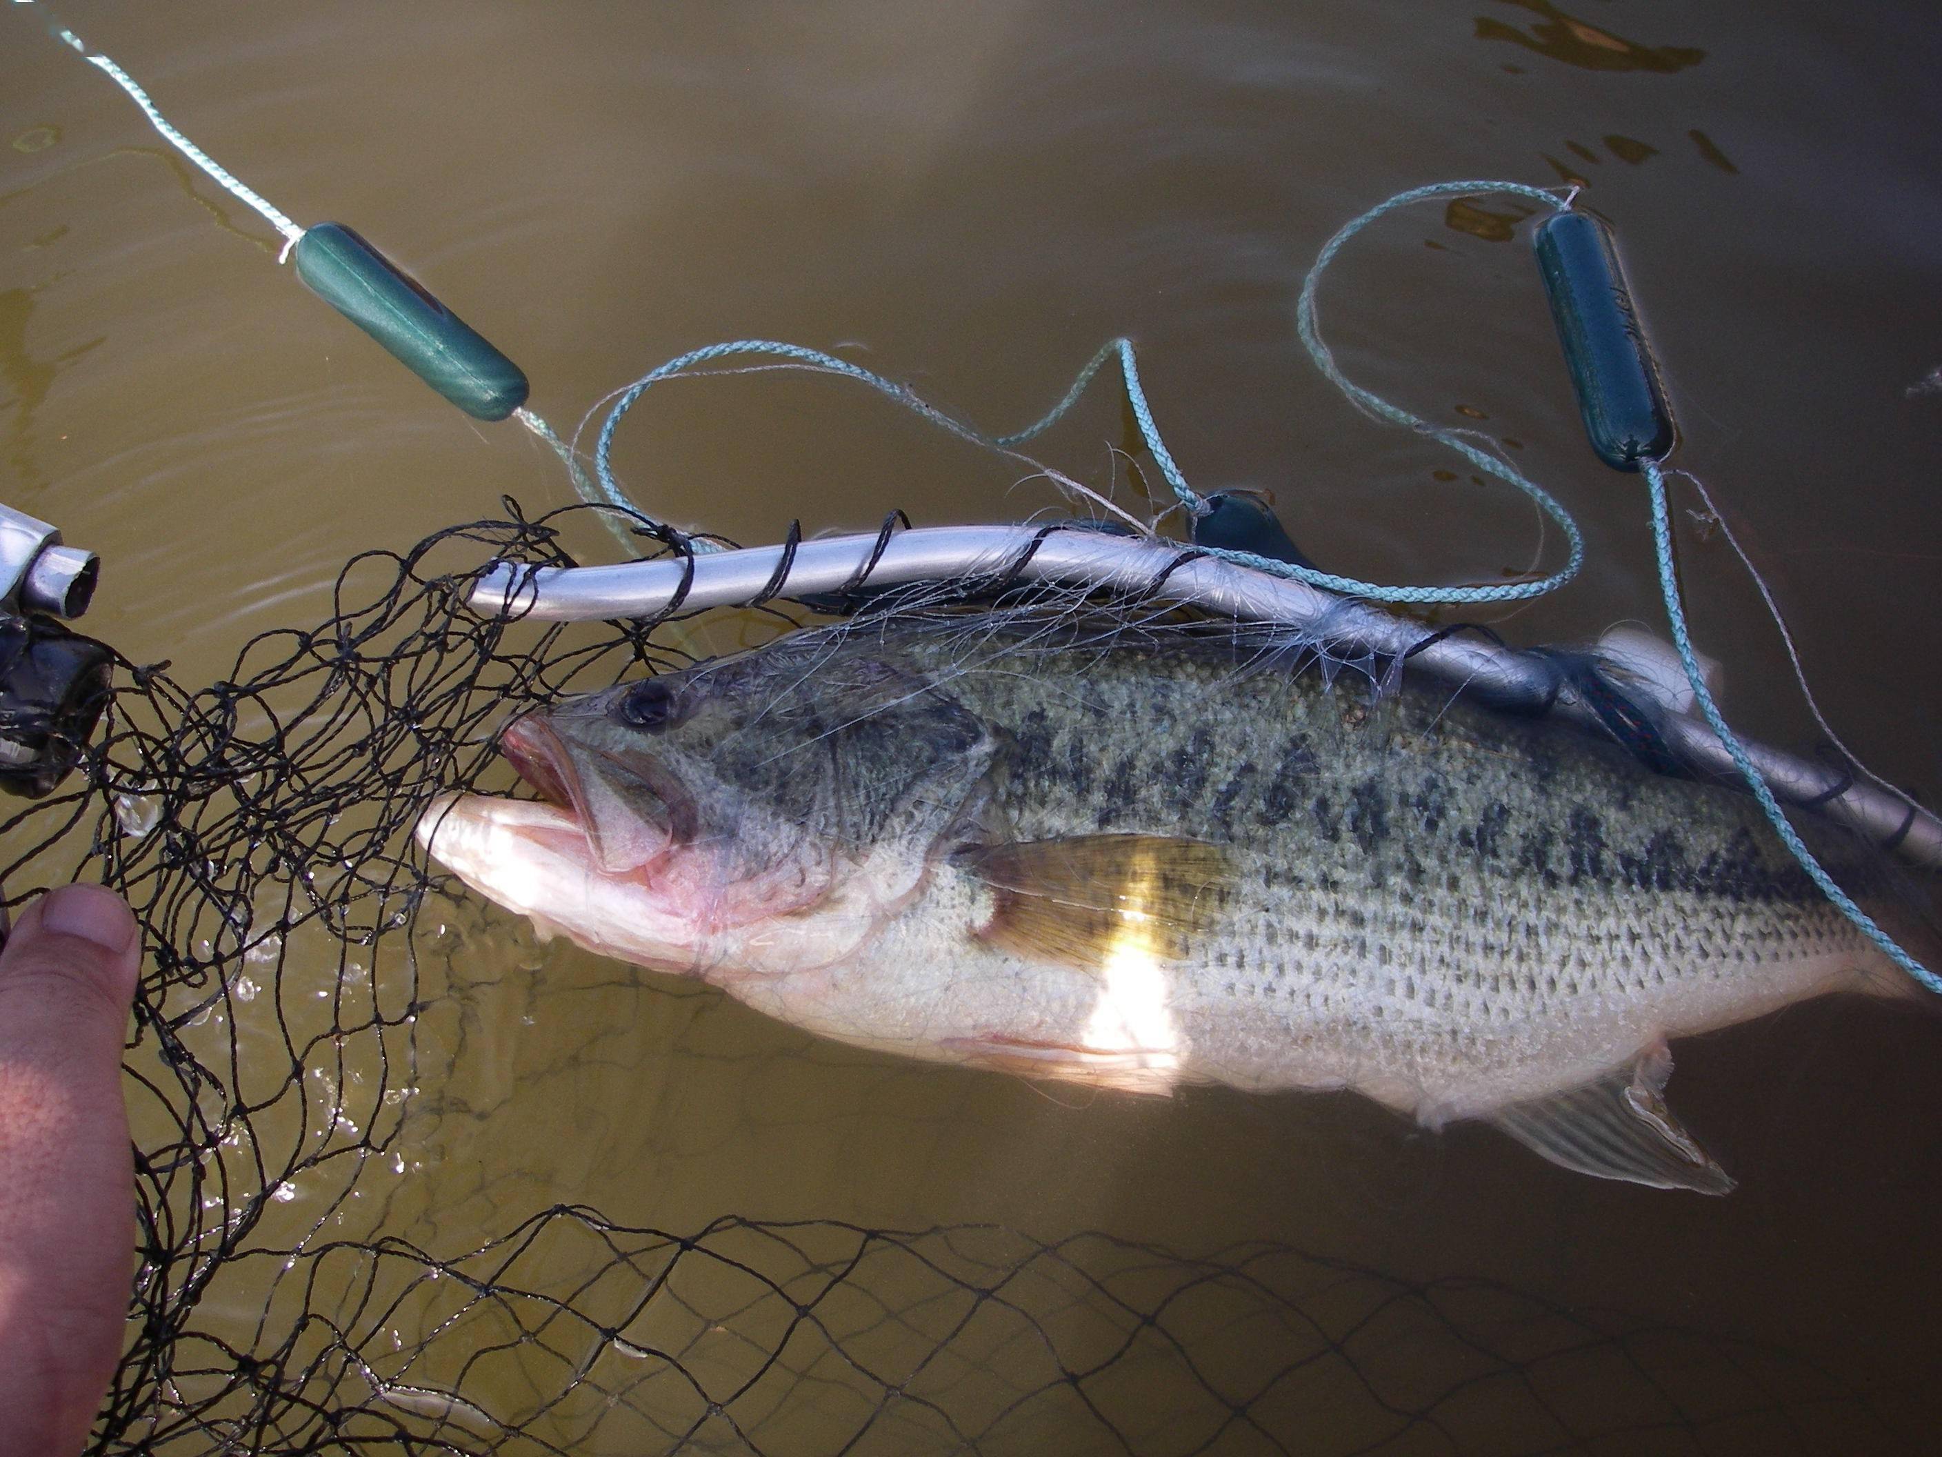
[[[814,1033],[1132,1092],[1354,1088],[1724,1193],[1666,1039],[1899,973],[1728,789],[1165,631],[804,631],[569,699],[419,839]]]

